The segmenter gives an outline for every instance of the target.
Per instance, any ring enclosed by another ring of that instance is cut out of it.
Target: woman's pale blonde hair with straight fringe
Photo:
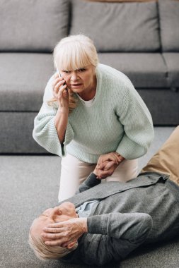
[[[71,35],[64,37],[54,47],[54,67],[59,70],[78,70],[89,64],[94,68],[98,65],[98,54],[93,41],[85,35]],[[48,104],[57,101],[51,99]],[[69,95],[69,112],[76,107],[76,98]]]

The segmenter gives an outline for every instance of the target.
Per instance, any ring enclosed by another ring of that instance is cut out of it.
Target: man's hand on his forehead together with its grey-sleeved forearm
[[[106,235],[116,240],[127,240],[132,245],[139,245],[144,242],[151,227],[152,219],[149,214],[116,212],[50,224],[43,229],[45,233],[42,236],[51,239],[45,242],[47,245],[67,246],[86,232]],[[109,244],[109,250],[110,248],[113,248],[112,243]]]

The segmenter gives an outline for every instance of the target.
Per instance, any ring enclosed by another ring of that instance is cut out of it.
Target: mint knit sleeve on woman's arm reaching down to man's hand
[[[122,109],[117,107],[117,116],[124,126],[125,135],[116,152],[126,159],[142,157],[154,139],[154,126],[149,109],[132,83],[125,88]]]

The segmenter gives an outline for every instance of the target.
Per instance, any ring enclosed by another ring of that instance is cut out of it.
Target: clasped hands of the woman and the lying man
[[[117,166],[124,160],[125,158],[117,152],[110,152],[109,154],[103,154],[99,157],[98,163],[96,165],[96,169],[93,173],[96,174],[97,178],[103,179],[108,176],[111,176],[115,171]]]

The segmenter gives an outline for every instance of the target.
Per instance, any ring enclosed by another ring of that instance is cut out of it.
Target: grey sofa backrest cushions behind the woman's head
[[[52,52],[62,37],[79,33],[98,51],[179,51],[179,0],[0,0],[0,6],[0,51]]]

